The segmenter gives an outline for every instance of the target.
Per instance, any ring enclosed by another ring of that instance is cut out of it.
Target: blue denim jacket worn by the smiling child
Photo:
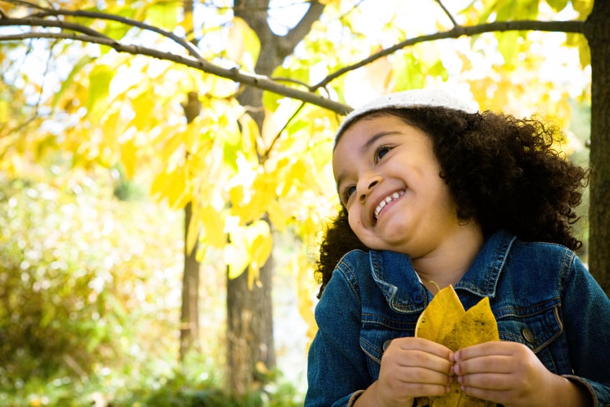
[[[454,288],[465,309],[489,297],[501,340],[610,406],[610,299],[573,251],[496,232]],[[413,336],[431,298],[402,253],[343,256],[315,308],[305,406],[352,404],[377,380],[384,343]]]

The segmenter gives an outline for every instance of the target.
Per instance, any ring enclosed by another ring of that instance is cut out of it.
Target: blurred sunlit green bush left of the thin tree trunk
[[[0,392],[171,368],[181,221],[158,216],[97,179],[0,180]]]

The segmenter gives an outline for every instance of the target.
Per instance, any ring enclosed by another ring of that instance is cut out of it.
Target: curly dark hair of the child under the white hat
[[[530,242],[581,247],[572,225],[578,220],[575,208],[589,170],[570,163],[555,149],[555,143],[565,138],[557,126],[535,117],[439,107],[387,109],[365,117],[373,115],[399,117],[430,136],[440,177],[456,200],[458,219],[476,219],[485,237],[505,229]],[[341,207],[320,244],[315,265],[321,283],[318,297],[336,263],[352,249],[369,250],[352,232],[348,212]]]

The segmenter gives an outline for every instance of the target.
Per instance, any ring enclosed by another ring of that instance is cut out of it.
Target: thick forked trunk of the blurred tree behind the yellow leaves
[[[260,40],[260,56],[255,72],[270,76],[292,53],[297,43],[311,30],[324,10],[318,1],[312,0],[308,11],[287,35],[279,37],[269,28],[267,9],[269,0],[235,0],[235,16],[241,17],[253,29]],[[237,98],[262,130],[265,110],[262,90],[246,87]],[[264,160],[265,157],[259,157]],[[264,162],[261,161],[261,164]],[[269,219],[265,217],[269,223]],[[265,382],[257,367],[275,367],[275,346],[271,307],[271,280],[273,254],[260,269],[260,284],[248,289],[247,272],[227,283],[228,315],[228,385],[237,396],[255,389]],[[262,363],[259,363],[262,362]]]

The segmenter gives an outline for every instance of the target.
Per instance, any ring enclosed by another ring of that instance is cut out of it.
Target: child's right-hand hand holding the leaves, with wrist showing
[[[588,406],[587,394],[552,373],[530,348],[516,342],[486,342],[452,355],[462,391],[507,407]]]

